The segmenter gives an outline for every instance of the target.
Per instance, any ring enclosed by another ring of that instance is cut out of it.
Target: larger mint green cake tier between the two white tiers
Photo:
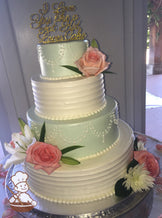
[[[95,157],[111,149],[119,139],[117,102],[107,97],[106,107],[86,118],[73,120],[47,120],[35,114],[34,107],[27,112],[28,124],[37,138],[45,122],[45,142],[57,145],[59,149],[72,145],[84,146],[67,153],[78,159]]]

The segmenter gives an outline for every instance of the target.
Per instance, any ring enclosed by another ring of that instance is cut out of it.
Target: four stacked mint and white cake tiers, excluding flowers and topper
[[[81,76],[63,67],[74,66],[93,49],[87,48],[87,41],[37,47],[41,75],[32,78],[35,107],[27,113],[28,124],[38,138],[45,123],[45,142],[60,150],[82,146],[68,152],[79,165],[61,163],[49,175],[25,163],[31,190],[52,202],[77,204],[114,195],[133,155],[132,129],[119,119],[117,102],[105,96],[103,74]]]

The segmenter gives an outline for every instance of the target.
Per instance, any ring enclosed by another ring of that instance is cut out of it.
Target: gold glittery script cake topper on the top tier
[[[80,24],[80,17],[77,14],[68,15],[75,12],[76,6],[66,6],[65,2],[53,3],[51,10],[54,16],[47,16],[50,12],[50,4],[43,3],[43,8],[39,13],[30,16],[31,28],[38,29],[39,43],[53,43],[72,40],[84,40],[86,33],[83,32]]]

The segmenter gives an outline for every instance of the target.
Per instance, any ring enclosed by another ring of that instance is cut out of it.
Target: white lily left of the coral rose
[[[19,164],[24,161],[26,150],[29,145],[36,141],[28,125],[24,126],[24,135],[22,133],[13,133],[10,143],[4,143],[5,150],[11,154],[7,159],[4,168],[7,169],[11,164]]]

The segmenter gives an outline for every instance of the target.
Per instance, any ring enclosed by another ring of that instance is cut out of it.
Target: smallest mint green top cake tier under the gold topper
[[[87,40],[37,45],[41,77],[52,80],[80,77],[80,74],[62,65],[75,66],[75,61],[86,52],[87,47]]]

